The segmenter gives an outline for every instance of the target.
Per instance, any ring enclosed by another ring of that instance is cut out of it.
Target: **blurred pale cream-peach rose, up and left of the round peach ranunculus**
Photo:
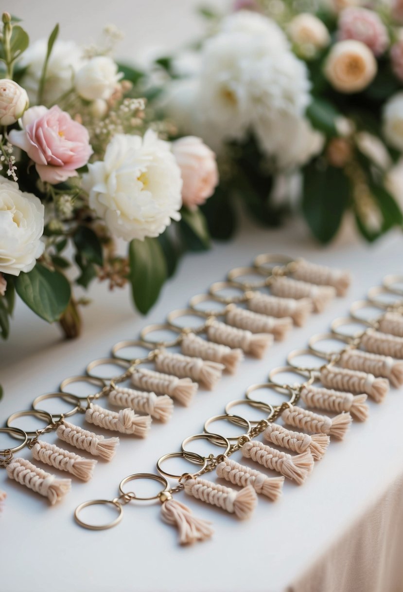
[[[288,25],[291,41],[306,57],[314,56],[319,49],[327,47],[330,35],[323,22],[313,14],[303,12],[298,14]]]

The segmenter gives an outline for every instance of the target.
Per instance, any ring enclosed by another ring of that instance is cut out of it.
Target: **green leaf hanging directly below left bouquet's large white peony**
[[[132,295],[142,314],[148,313],[157,301],[167,279],[167,263],[157,239],[132,240],[129,244]]]

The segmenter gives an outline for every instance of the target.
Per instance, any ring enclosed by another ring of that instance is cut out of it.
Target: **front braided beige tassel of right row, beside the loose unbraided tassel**
[[[184,490],[189,496],[222,508],[241,520],[251,516],[257,503],[255,490],[250,485],[241,491],[235,491],[224,485],[193,477],[184,482]]]

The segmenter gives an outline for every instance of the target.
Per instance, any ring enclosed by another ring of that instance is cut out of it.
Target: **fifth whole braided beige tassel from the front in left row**
[[[168,395],[155,392],[135,391],[132,388],[115,387],[108,395],[108,401],[117,407],[130,407],[135,411],[147,413],[160,422],[168,422],[174,411],[174,402]]]

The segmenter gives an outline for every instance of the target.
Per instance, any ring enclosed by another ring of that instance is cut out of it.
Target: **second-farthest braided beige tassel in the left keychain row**
[[[336,296],[333,286],[317,286],[284,277],[275,278],[270,284],[270,291],[283,298],[311,298],[315,313],[323,313],[330,300]]]

